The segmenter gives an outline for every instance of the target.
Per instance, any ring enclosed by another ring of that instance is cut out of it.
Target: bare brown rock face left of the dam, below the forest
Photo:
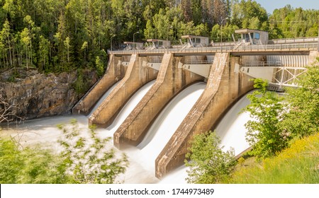
[[[16,115],[26,120],[65,115],[77,103],[82,94],[74,89],[77,81],[77,71],[61,74],[40,74],[36,70],[18,70],[19,78],[9,82],[11,71],[0,74],[0,94],[9,104],[18,105]],[[87,88],[90,88],[97,76],[95,72],[84,72],[84,78],[89,79]]]

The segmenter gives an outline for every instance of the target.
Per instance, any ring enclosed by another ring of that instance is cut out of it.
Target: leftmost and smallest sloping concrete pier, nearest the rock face
[[[122,57],[115,57],[110,55],[108,67],[104,76],[93,86],[79,102],[74,105],[72,113],[88,115],[92,107],[101,98],[101,96],[108,91],[113,84],[121,80],[126,71],[126,67],[118,65],[118,61],[123,61]]]

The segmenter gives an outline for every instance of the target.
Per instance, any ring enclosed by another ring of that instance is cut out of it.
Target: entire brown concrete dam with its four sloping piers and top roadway
[[[155,81],[113,134],[116,147],[137,146],[169,101],[194,83],[205,82],[203,93],[154,162],[155,175],[162,178],[184,163],[194,134],[215,129],[225,112],[253,89],[252,78],[267,79],[276,90],[296,86],[298,76],[319,56],[318,38],[298,45],[289,40],[273,42],[279,43],[195,47],[191,42],[191,48],[111,51],[106,73],[74,106],[73,113],[88,115],[117,83],[89,115],[89,124],[108,127],[139,88]]]

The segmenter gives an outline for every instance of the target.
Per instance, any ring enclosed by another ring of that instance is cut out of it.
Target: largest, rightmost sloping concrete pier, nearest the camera
[[[157,177],[183,164],[194,134],[212,129],[230,105],[252,90],[250,77],[234,72],[235,62],[238,57],[216,53],[205,91],[155,161]]]

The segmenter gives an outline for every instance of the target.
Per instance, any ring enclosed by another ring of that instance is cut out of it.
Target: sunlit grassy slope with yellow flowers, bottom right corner
[[[319,183],[319,133],[295,141],[278,156],[257,162],[241,159],[228,183]]]

